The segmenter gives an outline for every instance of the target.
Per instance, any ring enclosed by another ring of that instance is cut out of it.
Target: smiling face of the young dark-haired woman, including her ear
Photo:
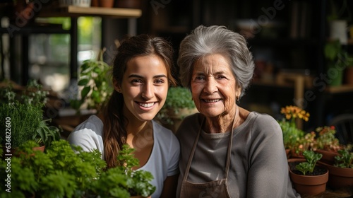
[[[167,98],[166,66],[155,54],[135,57],[126,66],[121,86],[115,88],[124,95],[124,115],[128,120],[152,120]]]

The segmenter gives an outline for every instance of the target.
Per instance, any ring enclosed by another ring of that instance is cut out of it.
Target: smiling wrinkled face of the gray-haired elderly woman
[[[193,101],[206,117],[216,117],[235,110],[240,95],[229,60],[222,54],[210,54],[199,59],[191,77]]]

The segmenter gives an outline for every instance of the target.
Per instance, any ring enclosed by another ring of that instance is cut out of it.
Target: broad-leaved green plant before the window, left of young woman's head
[[[71,107],[79,112],[86,104],[88,109],[100,111],[112,94],[112,86],[107,82],[110,66],[102,60],[85,60],[80,66],[78,86],[82,87],[80,99],[70,101]]]

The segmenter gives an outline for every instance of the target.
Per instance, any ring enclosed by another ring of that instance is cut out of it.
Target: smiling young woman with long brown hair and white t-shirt
[[[179,175],[179,142],[152,119],[167,98],[172,77],[172,46],[161,37],[129,37],[118,48],[112,66],[114,92],[102,115],[92,115],[68,136],[84,151],[98,149],[107,168],[119,165],[124,144],[135,148],[140,165],[154,176],[152,197],[175,197]]]

